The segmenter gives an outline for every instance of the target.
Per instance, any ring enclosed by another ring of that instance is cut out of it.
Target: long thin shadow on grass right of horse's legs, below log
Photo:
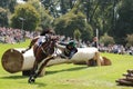
[[[63,71],[76,71],[76,70],[82,70],[89,67],[75,67],[75,68],[70,68],[70,69],[62,69],[62,70],[55,70],[55,71],[45,71],[47,76],[49,75],[54,75],[58,72],[63,72]]]

